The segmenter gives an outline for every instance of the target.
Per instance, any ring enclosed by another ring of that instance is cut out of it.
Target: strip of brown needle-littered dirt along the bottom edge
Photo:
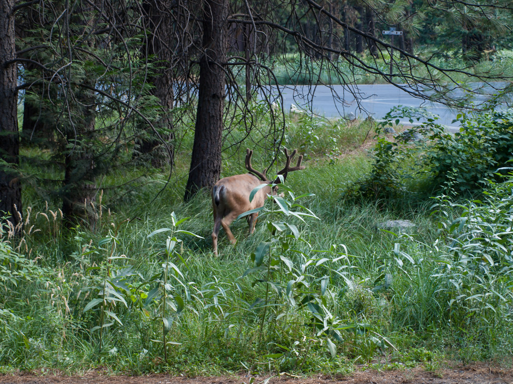
[[[2,384],[263,384],[268,376],[184,377],[155,374],[109,376],[98,372],[83,376],[14,374],[0,376]],[[513,370],[485,364],[425,372],[422,367],[401,371],[358,371],[348,376],[271,377],[265,384],[513,384]]]

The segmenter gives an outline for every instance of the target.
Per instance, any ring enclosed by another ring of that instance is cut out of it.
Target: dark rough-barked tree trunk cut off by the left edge
[[[14,42],[14,0],[0,2],[0,211],[11,215],[7,221],[21,229],[22,187],[17,174],[19,134],[17,120],[16,63],[6,63],[16,56]],[[0,212],[0,220],[3,213]],[[5,223],[5,222],[2,222]]]

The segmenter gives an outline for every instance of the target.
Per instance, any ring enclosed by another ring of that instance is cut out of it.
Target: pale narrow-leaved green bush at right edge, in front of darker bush
[[[464,204],[438,199],[450,243],[432,278],[438,302],[446,303],[445,321],[462,339],[467,336],[467,342],[489,351],[513,336],[513,174],[504,182],[490,182],[484,196]],[[461,213],[448,219],[454,212]]]

